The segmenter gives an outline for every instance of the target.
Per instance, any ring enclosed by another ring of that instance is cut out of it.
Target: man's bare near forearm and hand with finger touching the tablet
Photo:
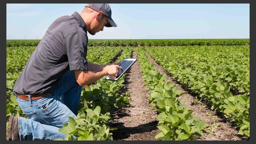
[[[89,65],[88,65],[89,66]],[[98,66],[100,68],[100,66]],[[74,70],[76,75],[76,82],[80,86],[89,85],[98,81],[103,76],[117,76],[119,65],[107,65],[103,68],[97,69],[95,71],[85,71],[85,70]]]

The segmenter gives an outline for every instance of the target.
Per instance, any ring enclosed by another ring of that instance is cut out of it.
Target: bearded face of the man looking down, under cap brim
[[[88,32],[91,35],[95,35],[99,31],[103,31],[104,26],[108,24],[108,19],[105,15],[100,14],[96,19],[92,21],[91,30]]]

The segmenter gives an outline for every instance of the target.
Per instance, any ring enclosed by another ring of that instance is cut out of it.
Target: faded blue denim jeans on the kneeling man
[[[76,105],[80,104],[82,86],[77,84],[74,71],[68,71],[52,94],[38,100],[16,97],[22,111],[29,117],[18,117],[20,140],[64,139],[66,134],[58,129],[69,123],[68,117],[77,117]]]

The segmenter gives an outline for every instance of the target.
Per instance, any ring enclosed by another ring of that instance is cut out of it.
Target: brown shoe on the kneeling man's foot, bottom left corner
[[[17,116],[11,115],[9,118],[6,140],[20,140]]]

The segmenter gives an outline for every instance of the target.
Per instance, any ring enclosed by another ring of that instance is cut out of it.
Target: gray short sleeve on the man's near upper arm
[[[88,70],[87,45],[86,33],[78,31],[65,37],[64,47],[68,55],[70,70]]]

